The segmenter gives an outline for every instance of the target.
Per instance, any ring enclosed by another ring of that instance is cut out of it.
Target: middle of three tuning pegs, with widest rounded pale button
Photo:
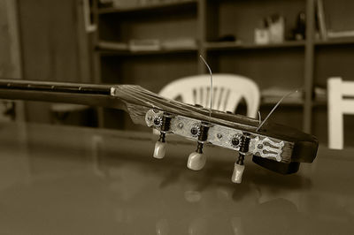
[[[199,126],[193,126],[190,130],[193,136],[198,137],[198,145],[196,147],[196,151],[189,155],[189,159],[187,162],[187,167],[190,170],[199,171],[203,169],[206,156],[203,154],[203,146],[204,141],[208,139],[208,131],[209,131],[210,124],[209,123],[202,123]]]

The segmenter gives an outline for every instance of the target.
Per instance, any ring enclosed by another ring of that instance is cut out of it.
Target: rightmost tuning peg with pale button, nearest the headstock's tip
[[[243,171],[244,171],[244,157],[245,155],[248,153],[249,151],[249,147],[250,147],[250,134],[249,133],[243,133],[242,136],[238,137],[239,141],[234,141],[234,139],[232,140],[232,142],[234,143],[238,143],[240,148],[239,148],[239,152],[238,152],[238,159],[235,163],[234,166],[234,172],[233,175],[231,177],[231,181],[236,183],[236,184],[240,184],[242,182],[242,175],[243,175]]]

